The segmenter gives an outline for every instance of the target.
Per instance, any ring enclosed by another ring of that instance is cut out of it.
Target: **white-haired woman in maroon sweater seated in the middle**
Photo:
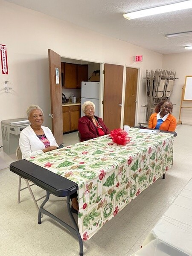
[[[81,108],[85,114],[85,116],[79,119],[78,125],[81,141],[90,140],[110,133],[102,118],[94,116],[95,104],[93,102],[86,101]]]

